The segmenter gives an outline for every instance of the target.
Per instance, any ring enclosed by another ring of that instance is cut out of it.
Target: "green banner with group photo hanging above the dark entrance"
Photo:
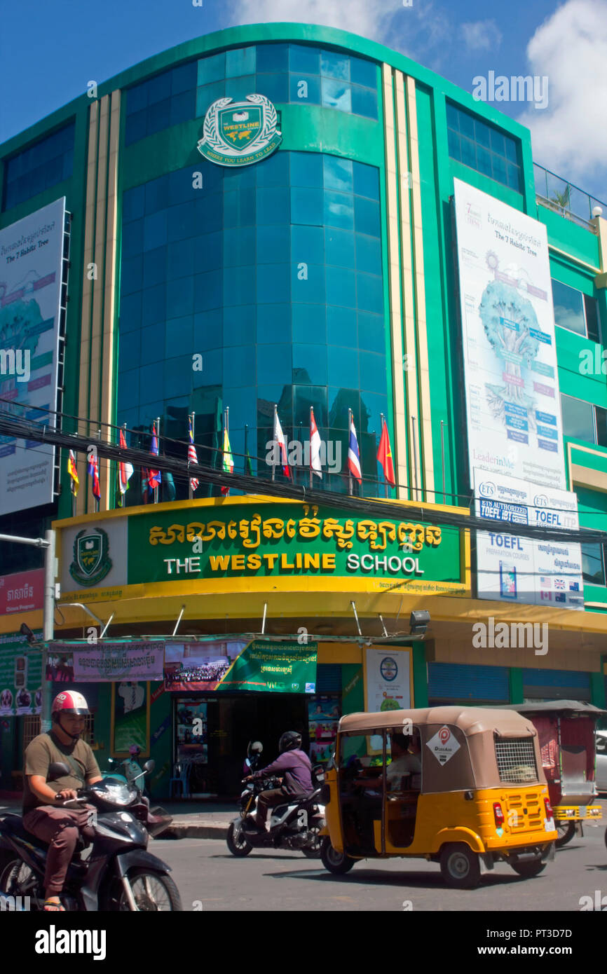
[[[316,693],[317,652],[317,643],[265,640],[169,645],[166,688],[173,693]]]

